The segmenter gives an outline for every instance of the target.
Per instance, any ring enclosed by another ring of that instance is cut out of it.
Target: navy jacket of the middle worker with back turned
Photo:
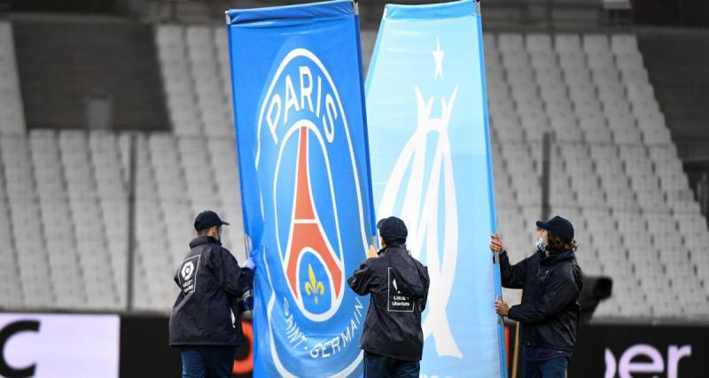
[[[388,246],[378,258],[368,258],[347,283],[361,296],[370,294],[362,350],[392,359],[421,360],[428,270],[409,255],[406,246]]]

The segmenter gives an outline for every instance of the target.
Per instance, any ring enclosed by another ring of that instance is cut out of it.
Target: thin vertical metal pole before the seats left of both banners
[[[128,263],[126,265],[126,304],[128,311],[133,311],[133,272],[136,260],[136,228],[134,221],[136,218],[136,133],[130,133],[129,137],[129,180],[128,180]]]

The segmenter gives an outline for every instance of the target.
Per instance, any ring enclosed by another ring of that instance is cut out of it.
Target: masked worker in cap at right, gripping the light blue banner
[[[498,301],[495,310],[522,325],[525,378],[564,378],[580,317],[578,246],[568,220],[556,216],[536,225],[537,251],[514,266],[500,236],[492,235],[490,250],[501,252],[503,287],[524,289],[521,304],[509,307]]]

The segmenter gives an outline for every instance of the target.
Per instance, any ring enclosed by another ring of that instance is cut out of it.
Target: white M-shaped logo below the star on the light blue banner
[[[425,250],[430,291],[435,294],[429,297],[430,310],[423,323],[424,338],[433,336],[439,356],[462,358],[446,313],[458,255],[456,187],[448,141],[448,122],[457,87],[448,101],[440,99],[440,118],[431,118],[433,97],[425,101],[418,87],[415,91],[417,129],[393,166],[378,213],[401,213],[409,227],[407,243],[414,257],[420,258],[421,251]],[[432,141],[435,145],[427,153],[426,147]],[[408,182],[404,182],[406,177]],[[394,211],[394,206],[398,212]],[[440,230],[443,235],[439,235]]]

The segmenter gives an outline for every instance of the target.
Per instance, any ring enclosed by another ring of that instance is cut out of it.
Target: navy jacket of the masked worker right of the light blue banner
[[[500,255],[503,286],[524,289],[522,303],[510,307],[507,317],[522,323],[522,342],[557,351],[573,351],[580,317],[581,270],[573,251],[543,252],[510,266]]]

